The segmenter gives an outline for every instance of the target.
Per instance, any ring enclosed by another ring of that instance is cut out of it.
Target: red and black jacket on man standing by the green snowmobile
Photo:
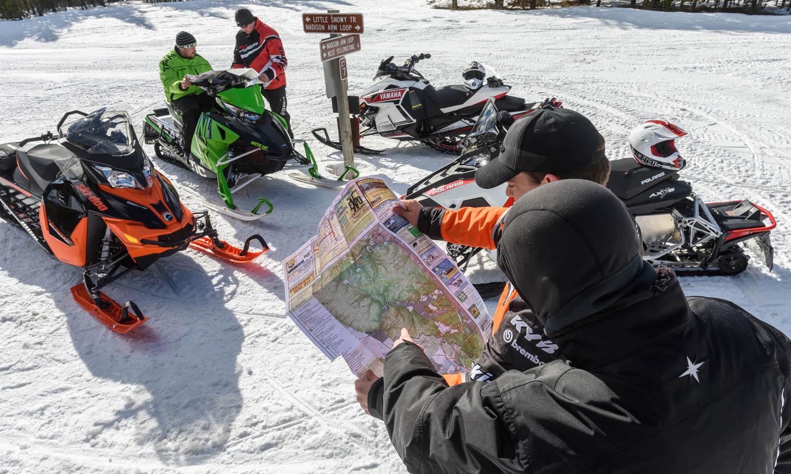
[[[281,88],[286,85],[286,52],[278,32],[255,18],[255,28],[249,35],[242,30],[237,32],[237,46],[233,49],[231,67],[249,67],[261,74],[266,70],[274,73],[274,79],[267,89]]]

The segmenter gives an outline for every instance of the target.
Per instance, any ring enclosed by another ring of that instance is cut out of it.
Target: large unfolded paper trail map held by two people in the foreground
[[[402,216],[380,179],[350,182],[316,235],[283,261],[290,318],[355,374],[382,373],[409,329],[441,374],[467,371],[491,318],[478,292],[431,239]]]

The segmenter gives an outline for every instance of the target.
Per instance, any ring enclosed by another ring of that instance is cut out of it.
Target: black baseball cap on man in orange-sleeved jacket
[[[561,173],[606,159],[599,131],[589,119],[567,108],[543,107],[513,123],[500,156],[475,171],[483,189],[500,186],[521,171]]]

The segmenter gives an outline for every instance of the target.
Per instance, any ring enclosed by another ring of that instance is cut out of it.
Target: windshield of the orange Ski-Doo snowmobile
[[[67,123],[59,132],[60,137],[86,152],[127,156],[134,151],[130,122],[124,111],[100,109]]]

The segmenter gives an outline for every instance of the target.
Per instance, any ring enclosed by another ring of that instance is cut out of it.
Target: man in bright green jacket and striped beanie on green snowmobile
[[[214,99],[206,95],[202,88],[192,85],[187,74],[197,75],[211,70],[206,59],[196,52],[198,46],[195,36],[187,32],[176,35],[176,47],[159,62],[159,77],[165,87],[165,100],[171,103],[184,123],[182,148],[189,156],[192,135],[201,112],[209,111]]]

